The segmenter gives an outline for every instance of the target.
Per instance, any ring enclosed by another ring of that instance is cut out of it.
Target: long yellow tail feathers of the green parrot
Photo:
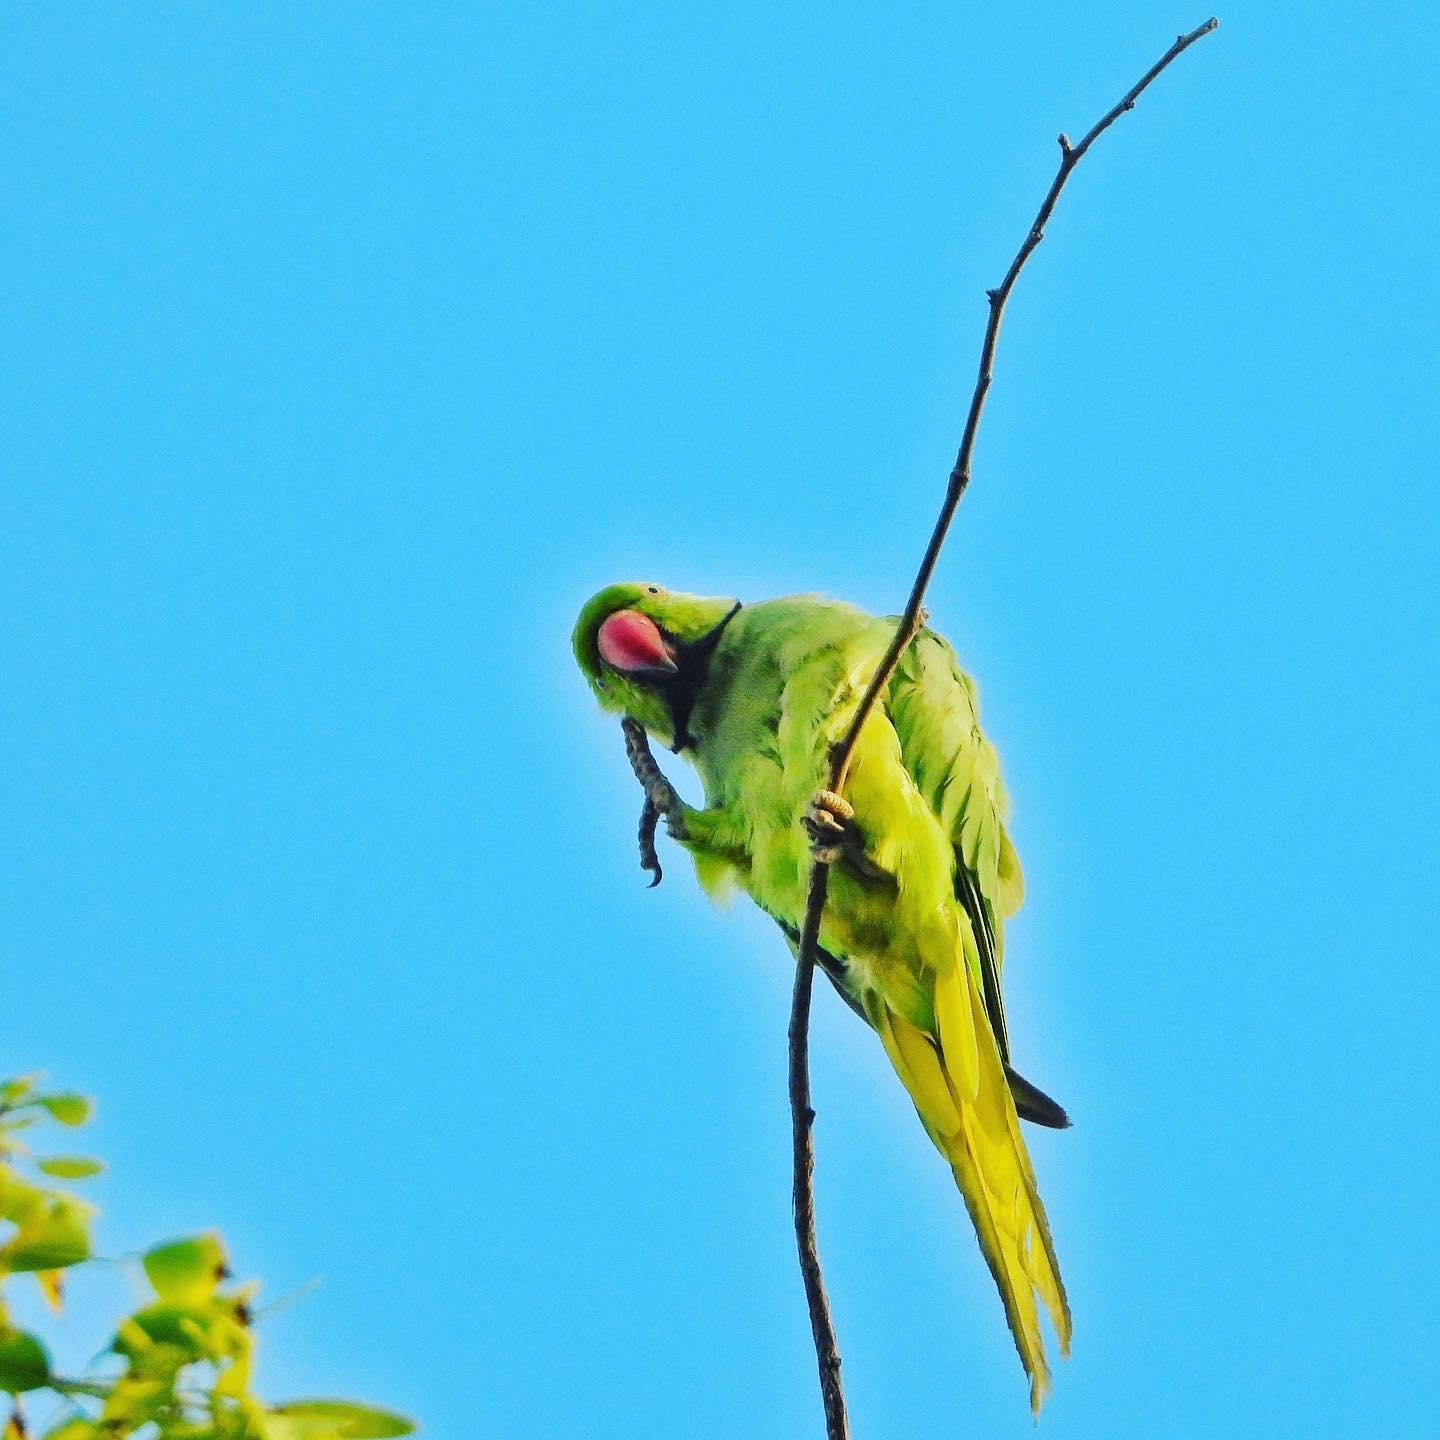
[[[891,1064],[955,1172],[1030,1377],[1031,1413],[1038,1416],[1050,1391],[1040,1305],[1061,1355],[1070,1354],[1070,1306],[984,996],[963,962],[942,975],[935,995],[937,1035],[910,1024],[883,996],[867,999]]]

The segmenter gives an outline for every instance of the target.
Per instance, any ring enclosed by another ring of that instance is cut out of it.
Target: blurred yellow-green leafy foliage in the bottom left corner
[[[65,1413],[42,1440],[389,1440],[413,1433],[410,1420],[374,1405],[266,1405],[252,1392],[251,1300],[258,1286],[230,1283],[215,1231],[148,1250],[148,1295],[120,1322],[94,1372],[56,1374],[45,1341],[12,1323],[6,1286],[33,1276],[50,1306],[60,1308],[65,1273],[94,1257],[96,1210],[46,1181],[82,1181],[102,1166],[85,1155],[32,1153],[27,1132],[35,1126],[81,1126],[94,1113],[88,1097],[43,1092],[40,1080],[29,1074],[0,1083],[0,1391],[12,1397],[3,1440],[26,1440],[20,1397],[46,1392]]]

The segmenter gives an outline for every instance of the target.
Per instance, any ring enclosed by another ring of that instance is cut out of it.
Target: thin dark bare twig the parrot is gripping
[[[914,583],[910,586],[910,598],[906,600],[900,624],[896,626],[890,647],[876,668],[865,693],[855,707],[850,727],[841,742],[834,747],[829,757],[828,789],[840,793],[845,785],[850,770],[850,757],[860,739],[860,732],[874,708],[881,690],[890,684],[900,657],[906,647],[914,639],[924,625],[924,592],[935,573],[936,562],[940,559],[940,547],[950,530],[950,521],[959,507],[965,487],[971,482],[971,455],[975,449],[975,435],[979,431],[981,415],[985,410],[985,397],[989,393],[991,380],[995,374],[995,346],[999,338],[999,323],[1005,312],[1005,302],[1009,292],[1025,266],[1025,261],[1034,253],[1035,246],[1045,238],[1045,223],[1050,220],[1064,189],[1070,171],[1080,163],[1081,156],[1115,124],[1128,109],[1135,108],[1136,99],[1149,84],[1174,59],[1184,55],[1197,40],[1210,35],[1220,22],[1214,17],[1202,26],[1181,35],[1175,43],[1145,72],[1143,76],[1126,92],[1125,98],[1107,111],[1086,132],[1077,145],[1071,145],[1068,137],[1060,135],[1060,170],[1050,184],[1044,202],[1030,226],[1024,243],[1015,252],[1015,258],[1005,271],[1005,278],[986,291],[989,298],[989,321],[985,325],[985,341],[981,346],[979,372],[975,379],[975,392],[971,396],[971,409],[965,418],[965,431],[960,436],[960,449],[950,469],[949,484],[945,491],[945,501],[940,505],[939,518],[930,533],[930,541],[920,560]],[[815,1338],[815,1358],[819,1364],[819,1387],[825,1403],[825,1433],[828,1440],[847,1440],[850,1436],[850,1420],[845,1416],[845,1397],[840,1384],[840,1348],[835,1341],[835,1325],[829,1315],[829,1300],[825,1295],[825,1277],[821,1272],[819,1251],[815,1241],[815,1143],[814,1123],[815,1110],[811,1107],[809,1090],[809,1012],[811,994],[815,981],[815,950],[819,945],[819,923],[825,910],[825,894],[829,884],[829,865],[816,860],[811,867],[809,893],[805,901],[805,924],[801,930],[799,952],[795,962],[795,989],[791,998],[791,1135],[793,1148],[793,1207],[795,1207],[795,1241],[799,1248],[801,1274],[805,1280],[805,1299],[809,1303],[811,1333]]]

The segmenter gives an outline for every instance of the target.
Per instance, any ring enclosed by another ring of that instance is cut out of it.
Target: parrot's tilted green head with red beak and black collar
[[[710,655],[739,609],[739,600],[660,585],[611,585],[580,611],[575,658],[603,708],[681,750]]]

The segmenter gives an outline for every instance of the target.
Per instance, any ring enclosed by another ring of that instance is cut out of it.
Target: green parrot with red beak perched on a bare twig
[[[955,1174],[1038,1414],[1040,1306],[1061,1354],[1070,1308],[1018,1122],[1070,1122],[1009,1064],[999,976],[1024,880],[975,684],[945,639],[916,636],[860,732],[845,796],[824,789],[896,624],[818,596],[742,605],[632,583],[593,596],[573,639],[600,706],[698,770],[703,809],[632,752],[711,896],[739,886],[793,949],[811,861],[831,864],[818,960]]]

